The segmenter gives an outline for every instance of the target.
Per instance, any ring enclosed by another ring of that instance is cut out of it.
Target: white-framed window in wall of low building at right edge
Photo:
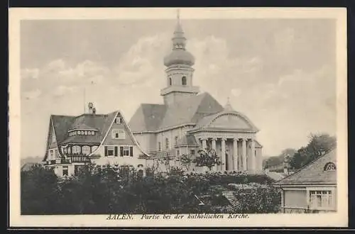
[[[331,190],[311,190],[310,208],[315,210],[334,209],[334,197]]]

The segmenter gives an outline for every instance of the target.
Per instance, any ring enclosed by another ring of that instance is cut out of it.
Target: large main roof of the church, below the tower
[[[133,132],[163,130],[183,124],[195,125],[201,118],[223,111],[209,93],[190,96],[173,105],[142,104],[131,118]]]

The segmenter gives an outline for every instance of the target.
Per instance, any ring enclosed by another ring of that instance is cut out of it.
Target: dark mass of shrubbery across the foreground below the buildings
[[[224,213],[233,208],[226,207],[225,201],[219,202],[221,198],[216,196],[223,189],[230,190],[230,183],[250,182],[270,184],[271,180],[263,175],[241,173],[183,175],[179,170],[173,170],[168,176],[140,177],[131,169],[115,172],[110,168],[95,170],[90,167],[77,177],[59,179],[49,169],[33,167],[21,172],[21,213]],[[213,186],[218,189],[212,190]],[[270,191],[237,191],[241,206],[237,209],[252,213],[273,212],[278,196],[271,192],[270,185],[268,189]],[[201,206],[196,196],[204,201],[206,195],[214,202]]]

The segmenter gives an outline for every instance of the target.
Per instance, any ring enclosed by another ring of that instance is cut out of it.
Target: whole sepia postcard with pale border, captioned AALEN
[[[9,34],[16,225],[347,225],[346,10],[18,9]]]

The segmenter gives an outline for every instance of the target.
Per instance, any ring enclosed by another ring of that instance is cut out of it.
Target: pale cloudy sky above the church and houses
[[[21,21],[21,157],[42,157],[50,114],[163,103],[175,19]],[[184,19],[193,84],[244,113],[263,155],[336,132],[335,21]],[[84,91],[85,90],[85,91]]]

